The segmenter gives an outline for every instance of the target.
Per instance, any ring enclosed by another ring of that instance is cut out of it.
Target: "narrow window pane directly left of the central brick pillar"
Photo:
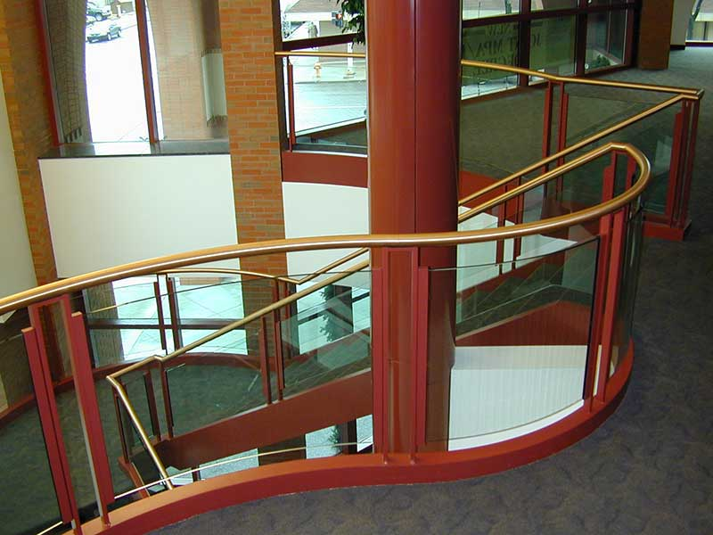
[[[227,137],[217,0],[148,0],[146,8],[160,139]]]

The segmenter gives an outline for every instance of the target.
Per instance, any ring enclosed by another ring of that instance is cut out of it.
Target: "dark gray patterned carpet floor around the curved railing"
[[[713,533],[713,49],[674,52],[665,71],[611,78],[709,92],[693,227],[684,243],[646,243],[635,368],[619,410],[569,449],[504,473],[269,498],[159,533]]]

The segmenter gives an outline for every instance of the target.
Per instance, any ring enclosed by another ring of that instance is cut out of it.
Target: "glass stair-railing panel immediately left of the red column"
[[[285,396],[371,366],[370,283],[366,272],[348,276],[281,321]]]

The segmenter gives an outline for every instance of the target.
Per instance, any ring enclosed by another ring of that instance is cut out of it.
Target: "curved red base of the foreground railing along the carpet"
[[[198,481],[139,500],[111,512],[111,526],[97,519],[85,534],[145,533],[211,510],[281,494],[399,483],[455,481],[501,472],[548,457],[583,439],[601,425],[624,398],[634,360],[627,357],[606,385],[606,401],[584,407],[537,432],[497,444],[450,452],[364,454],[292,461]]]

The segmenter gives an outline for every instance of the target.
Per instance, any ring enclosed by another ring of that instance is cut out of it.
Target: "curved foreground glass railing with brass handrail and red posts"
[[[608,162],[603,170],[596,167],[601,160]],[[275,460],[383,451],[383,437],[372,431],[371,419],[372,413],[383,418],[373,406],[372,369],[385,356],[374,354],[371,314],[375,288],[381,287],[373,281],[382,275],[361,260],[369,249],[301,278],[203,268],[212,261],[327,248],[457,247],[454,266],[428,272],[455,284],[458,347],[449,431],[447,436],[425,432],[426,445],[471,449],[510,440],[538,422],[578,410],[588,399],[611,400],[611,384],[619,381],[619,370],[627,373],[631,350],[639,200],[649,179],[648,161],[628,145],[606,144],[543,173],[544,166],[538,162],[519,185],[495,188],[479,203],[464,200],[458,232],[227,246],[111,268],[0,300],[0,314],[29,307],[37,315],[60,307],[54,312],[55,338],[65,349],[57,350],[55,360],[67,362],[78,394],[86,396],[89,389],[98,401],[94,407],[86,402],[91,396],[75,402],[75,420],[82,416],[76,426],[51,410],[39,411],[49,425],[43,428],[47,450],[57,452],[50,466],[61,520],[86,522],[99,515],[106,522],[112,507],[132,499]],[[587,179],[601,196],[573,200],[566,187],[558,187],[584,181],[574,174],[582,166],[594,166]],[[85,299],[77,300],[77,292]],[[250,292],[254,306],[242,306]],[[427,294],[416,295],[428,302]],[[569,326],[554,331],[562,315]],[[31,327],[25,334],[29,361],[53,362],[32,345],[49,333],[47,326],[33,321]],[[108,355],[124,327],[145,327],[167,340],[176,332],[184,338],[180,347],[159,344],[160,350],[134,362],[116,355],[96,358],[97,343]],[[194,340],[185,336],[192,330],[200,331]],[[553,338],[533,339],[533,333]],[[100,334],[105,339],[97,342]],[[553,369],[560,367],[558,375]],[[481,405],[457,393],[478,391],[472,385],[486,379],[474,378],[474,370],[492,372],[497,375],[492,385],[500,385],[479,391]],[[50,372],[40,369],[36,382],[52,385]],[[389,385],[384,388],[388,392]],[[546,399],[528,404],[528,396],[516,394],[520,389]],[[49,397],[60,399],[63,394],[53,390]],[[512,414],[488,410],[500,402],[498,395],[520,396],[512,399],[520,408]],[[469,412],[467,407],[476,406],[480,412]],[[268,414],[276,427],[255,424]],[[54,434],[47,434],[50,427]],[[73,452],[83,451],[77,448],[83,440],[72,437],[71,449],[58,441],[70,429],[85,435],[93,452],[89,458]],[[214,443],[218,436],[227,444]],[[79,484],[69,490],[72,482]],[[73,496],[77,506],[62,496]],[[42,513],[48,525],[56,514],[51,508]]]

